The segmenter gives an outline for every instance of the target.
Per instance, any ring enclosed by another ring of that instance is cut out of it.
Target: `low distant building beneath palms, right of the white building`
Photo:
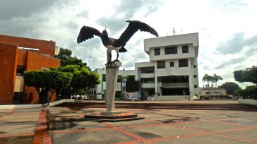
[[[229,98],[227,96],[227,90],[224,88],[200,88],[200,98],[203,99],[223,99]]]

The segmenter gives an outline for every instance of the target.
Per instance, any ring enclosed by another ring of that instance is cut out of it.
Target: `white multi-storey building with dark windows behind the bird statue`
[[[135,64],[135,70],[119,71],[141,81],[143,97],[158,94],[155,100],[193,100],[199,98],[198,88],[198,33],[155,37],[144,40],[148,62]],[[97,92],[105,90],[105,69],[97,68],[100,85]],[[122,93],[122,80],[117,91]]]

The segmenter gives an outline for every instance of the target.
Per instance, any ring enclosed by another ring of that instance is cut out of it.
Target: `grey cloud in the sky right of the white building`
[[[228,40],[227,42],[220,42],[217,44],[216,52],[217,54],[235,54],[241,52],[244,47],[254,46],[256,44],[257,35],[254,35],[249,39],[244,39],[244,33],[240,32],[234,34],[232,40]]]

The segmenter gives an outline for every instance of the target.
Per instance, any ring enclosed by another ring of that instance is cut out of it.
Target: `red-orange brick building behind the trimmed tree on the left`
[[[0,35],[0,104],[12,104],[15,92],[23,92],[24,104],[37,103],[37,91],[23,86],[20,73],[59,67],[61,61],[54,58],[55,54],[53,41]],[[55,92],[49,97],[54,101]]]

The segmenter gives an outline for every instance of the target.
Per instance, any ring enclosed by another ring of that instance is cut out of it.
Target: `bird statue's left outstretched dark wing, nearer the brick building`
[[[101,35],[101,32],[95,28],[92,28],[92,27],[88,27],[88,26],[83,26],[81,29],[80,29],[80,32],[78,34],[78,37],[77,37],[77,42],[78,44],[80,42],[83,42],[85,40],[88,40],[92,37],[94,37],[94,35],[97,35],[98,37],[100,37]]]

